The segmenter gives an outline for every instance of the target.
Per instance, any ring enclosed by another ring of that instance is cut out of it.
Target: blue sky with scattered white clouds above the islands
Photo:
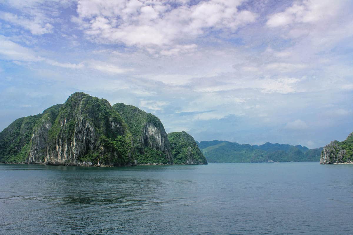
[[[350,0],[0,0],[0,130],[82,91],[197,141],[343,141],[352,11]]]

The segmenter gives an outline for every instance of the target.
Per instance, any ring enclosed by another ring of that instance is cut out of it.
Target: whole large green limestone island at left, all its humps
[[[73,93],[64,104],[15,120],[0,132],[0,162],[68,166],[207,164],[184,132],[132,105]]]

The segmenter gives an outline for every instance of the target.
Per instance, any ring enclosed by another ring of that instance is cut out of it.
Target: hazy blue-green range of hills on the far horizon
[[[309,149],[301,145],[238,144],[229,141],[201,141],[202,153],[210,163],[217,162],[301,162],[319,161],[323,148]]]

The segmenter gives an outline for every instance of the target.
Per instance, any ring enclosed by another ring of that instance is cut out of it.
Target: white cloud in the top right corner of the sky
[[[350,7],[346,0],[304,0],[269,16],[266,25],[274,28],[271,31],[274,36],[297,39],[292,41],[295,51],[301,50],[307,56],[330,50],[340,41],[352,37]]]

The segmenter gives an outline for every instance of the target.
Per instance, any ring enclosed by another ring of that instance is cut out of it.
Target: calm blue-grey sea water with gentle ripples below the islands
[[[0,165],[0,234],[352,234],[353,165]]]

